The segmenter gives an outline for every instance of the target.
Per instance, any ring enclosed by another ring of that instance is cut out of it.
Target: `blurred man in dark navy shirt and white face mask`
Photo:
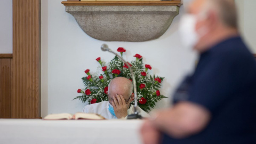
[[[239,37],[234,1],[195,0],[180,25],[200,59],[173,107],[143,123],[143,142],[256,143],[256,62]]]

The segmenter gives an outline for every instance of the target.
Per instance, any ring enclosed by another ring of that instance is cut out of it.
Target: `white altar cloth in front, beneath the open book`
[[[0,143],[141,143],[141,120],[0,119]]]

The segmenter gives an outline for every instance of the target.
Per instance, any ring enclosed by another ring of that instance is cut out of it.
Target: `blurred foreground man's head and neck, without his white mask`
[[[194,0],[188,13],[196,16],[195,31],[199,40],[194,50],[202,53],[213,45],[237,36],[237,14],[233,0]]]

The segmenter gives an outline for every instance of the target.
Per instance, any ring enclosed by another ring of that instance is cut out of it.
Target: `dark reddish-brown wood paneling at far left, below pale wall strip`
[[[11,118],[11,62],[0,54],[0,118]],[[6,56],[6,55],[5,55]]]

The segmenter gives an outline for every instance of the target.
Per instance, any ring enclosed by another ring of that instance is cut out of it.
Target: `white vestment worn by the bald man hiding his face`
[[[110,111],[108,110],[109,105],[110,104],[108,101],[102,101],[99,103],[93,103],[91,105],[86,105],[83,108],[83,113],[94,113],[94,114],[99,114],[99,115],[105,117],[106,119],[116,119],[117,117],[113,116],[110,113]],[[137,107],[137,109],[139,110],[139,114],[142,117],[149,117],[148,113],[146,113],[140,107]],[[134,106],[133,105],[131,105],[131,107],[127,110],[127,115],[130,115],[130,114],[134,114]]]

